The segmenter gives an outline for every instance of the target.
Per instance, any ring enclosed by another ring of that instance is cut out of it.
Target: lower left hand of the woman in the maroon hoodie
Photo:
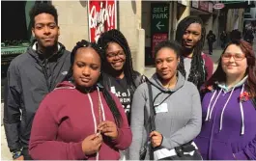
[[[102,143],[102,136],[100,133],[90,135],[83,140],[82,150],[86,155],[92,155],[99,151]]]

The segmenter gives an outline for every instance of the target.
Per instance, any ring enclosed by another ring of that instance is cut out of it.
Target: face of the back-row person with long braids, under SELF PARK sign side
[[[182,45],[188,49],[194,48],[201,37],[202,26],[199,23],[191,23],[185,30]]]

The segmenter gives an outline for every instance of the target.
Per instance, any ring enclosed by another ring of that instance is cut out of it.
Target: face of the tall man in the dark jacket
[[[60,35],[59,27],[54,16],[49,13],[40,13],[35,16],[32,32],[43,48],[54,46]]]

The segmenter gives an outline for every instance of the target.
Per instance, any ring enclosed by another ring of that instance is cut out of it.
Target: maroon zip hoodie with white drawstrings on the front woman
[[[47,94],[36,113],[33,121],[29,153],[36,160],[95,160],[95,155],[85,155],[82,151],[82,141],[95,133],[96,121],[99,121],[98,91],[89,95],[82,94],[69,82],[63,82]],[[122,104],[112,94],[122,116],[118,137],[109,140],[103,137],[99,151],[100,160],[118,160],[119,149],[130,146],[132,135]],[[114,117],[100,92],[105,121],[114,121]],[[103,115],[103,114],[102,114]],[[97,124],[98,125],[98,124]]]

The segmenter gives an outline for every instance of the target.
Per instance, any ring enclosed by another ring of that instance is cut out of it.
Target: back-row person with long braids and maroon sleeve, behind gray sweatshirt
[[[202,19],[198,16],[186,16],[178,24],[175,40],[183,46],[178,70],[198,89],[213,74],[213,61],[202,52],[205,37],[206,29]]]

